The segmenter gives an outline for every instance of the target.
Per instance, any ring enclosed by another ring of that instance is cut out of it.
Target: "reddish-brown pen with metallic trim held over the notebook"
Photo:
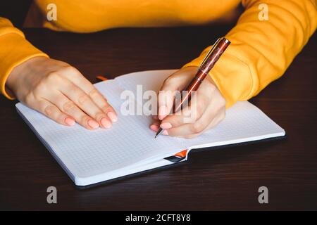
[[[192,81],[187,85],[187,88],[184,90],[186,91],[185,96],[182,96],[182,101],[178,103],[177,106],[173,106],[172,112],[176,113],[180,108],[182,107],[183,103],[186,101],[190,101],[190,97],[192,96],[192,91],[197,91],[199,88],[201,82],[204,80],[204,78],[208,75],[209,71],[213,68],[213,66],[216,64],[220,56],[223,54],[225,49],[228,48],[230,44],[230,41],[226,39],[225,37],[220,37],[215,44],[213,44],[213,47],[209,50],[209,52],[206,54],[204,60],[202,60],[201,64],[199,65],[197,74],[192,79]],[[160,127],[159,130],[156,132],[155,139],[159,134],[163,132],[163,129]]]

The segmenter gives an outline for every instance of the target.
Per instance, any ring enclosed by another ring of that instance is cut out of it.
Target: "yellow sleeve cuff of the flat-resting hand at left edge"
[[[6,92],[6,79],[10,75],[15,66],[20,63],[35,57],[47,56],[35,46],[32,46],[25,39],[23,32],[13,27],[12,23],[0,17],[0,89],[1,94],[4,94],[9,99],[13,99]]]

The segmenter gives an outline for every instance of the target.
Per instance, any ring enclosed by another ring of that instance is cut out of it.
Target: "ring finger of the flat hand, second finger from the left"
[[[99,127],[98,122],[96,122],[92,117],[89,117],[84,113],[77,105],[70,101],[69,98],[61,93],[51,95],[47,98],[51,103],[54,103],[63,113],[70,115],[75,119],[75,121],[87,129],[96,129]]]

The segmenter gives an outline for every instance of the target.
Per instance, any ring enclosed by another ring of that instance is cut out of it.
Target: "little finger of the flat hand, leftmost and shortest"
[[[37,101],[36,106],[32,108],[39,111],[40,113],[43,113],[46,115],[46,117],[49,117],[51,120],[54,120],[59,124],[63,124],[65,126],[73,126],[75,124],[73,117],[61,112],[61,110],[59,110],[56,105],[50,103],[49,101]]]

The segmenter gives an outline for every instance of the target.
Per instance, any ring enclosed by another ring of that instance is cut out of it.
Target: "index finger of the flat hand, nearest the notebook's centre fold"
[[[116,114],[116,110],[108,103],[106,98],[86,79],[77,69],[75,68],[67,68],[66,72],[63,72],[63,75],[66,76],[73,82],[76,86],[80,86],[80,89],[84,91],[92,101],[104,112],[112,122],[116,122],[118,120],[118,115]]]

